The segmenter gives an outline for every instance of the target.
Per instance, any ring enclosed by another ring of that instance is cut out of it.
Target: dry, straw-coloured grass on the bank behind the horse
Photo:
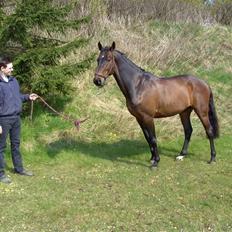
[[[84,2],[86,4],[86,1]],[[109,2],[115,4],[112,5],[115,8],[129,4],[128,1],[119,1],[121,5],[116,1]],[[135,2],[131,1],[131,9],[134,9],[133,6],[137,7],[135,10],[140,7],[140,4],[136,5]],[[148,0],[143,2],[147,3],[147,7],[149,6]],[[168,2],[171,4],[171,1]],[[231,127],[230,115],[232,112],[228,109],[225,110],[225,107],[230,106],[231,103],[228,95],[221,94],[226,85],[215,83],[213,81],[214,77],[210,76],[210,73],[213,74],[213,70],[217,69],[224,69],[225,73],[231,73],[232,41],[230,39],[231,30],[228,27],[218,24],[200,25],[183,21],[177,23],[169,20],[164,20],[165,22],[162,20],[145,20],[145,17],[138,17],[138,14],[137,16],[134,14],[132,20],[130,18],[131,13],[120,15],[120,11],[116,12],[115,10],[115,13],[112,13],[109,17],[106,14],[109,8],[104,8],[109,7],[109,5],[104,5],[101,0],[90,1],[90,3],[92,5],[85,5],[85,7],[87,9],[86,13],[91,12],[93,14],[93,22],[90,27],[83,27],[81,33],[91,34],[92,39],[86,48],[78,51],[77,54],[72,54],[68,59],[65,58],[62,62],[82,59],[92,51],[97,54],[98,41],[101,41],[103,45],[110,45],[112,41],[115,41],[117,49],[124,52],[137,65],[157,76],[184,73],[197,75],[206,79],[212,85],[221,127],[223,128],[222,133],[225,133],[225,128],[228,131],[228,128]],[[146,5],[144,5],[144,9],[145,7]],[[82,13],[83,9],[81,9]],[[124,9],[130,9],[130,7],[125,6]],[[188,10],[186,9],[186,12]],[[203,19],[200,14],[199,19]],[[104,131],[105,135],[102,136],[106,137],[136,138],[138,135],[142,136],[135,119],[127,111],[124,98],[113,78],[109,78],[108,84],[103,90],[98,90],[93,86],[94,68],[95,63],[91,70],[84,73],[82,77],[78,77],[74,82],[83,104],[89,106],[85,108],[84,112],[89,115],[93,114],[92,109],[96,111],[93,116],[95,118],[89,122],[88,126],[86,125],[83,128],[82,135],[91,130],[93,134],[99,134],[99,131],[103,133]],[[228,88],[231,89],[230,86]],[[229,91],[226,90],[225,93]],[[80,105],[80,98],[74,98],[70,107],[78,105]],[[192,121],[194,134],[204,136],[204,129],[195,114],[193,114]],[[175,138],[177,135],[183,134],[178,116],[157,120],[156,125],[160,140]],[[75,132],[73,133],[75,134]]]

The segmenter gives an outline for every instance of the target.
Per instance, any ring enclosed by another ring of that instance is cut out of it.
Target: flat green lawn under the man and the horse
[[[174,161],[181,138],[161,142],[157,170],[149,168],[142,138],[87,142],[66,135],[31,153],[23,146],[35,176],[8,168],[13,183],[0,185],[0,231],[231,231],[231,139],[216,141],[213,165],[206,162],[207,139],[193,137],[183,162]]]

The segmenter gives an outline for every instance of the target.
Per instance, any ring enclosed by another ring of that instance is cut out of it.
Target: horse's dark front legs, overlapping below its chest
[[[157,167],[158,162],[160,161],[160,157],[157,149],[157,140],[155,135],[155,126],[154,126],[153,118],[146,121],[145,120],[141,121],[137,119],[137,121],[150,147],[152,167]]]

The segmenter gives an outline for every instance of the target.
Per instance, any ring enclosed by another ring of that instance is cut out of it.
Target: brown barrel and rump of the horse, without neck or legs
[[[209,99],[209,86],[197,77],[180,75],[148,78],[141,107],[153,117],[173,116],[197,108]]]

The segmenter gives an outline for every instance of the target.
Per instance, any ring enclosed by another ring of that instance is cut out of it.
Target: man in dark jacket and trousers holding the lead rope
[[[8,58],[0,59],[0,182],[11,183],[5,175],[4,151],[6,139],[10,135],[11,156],[14,172],[23,176],[33,176],[23,167],[20,146],[20,113],[22,102],[37,99],[37,94],[21,94],[18,81],[11,76],[13,64]]]

